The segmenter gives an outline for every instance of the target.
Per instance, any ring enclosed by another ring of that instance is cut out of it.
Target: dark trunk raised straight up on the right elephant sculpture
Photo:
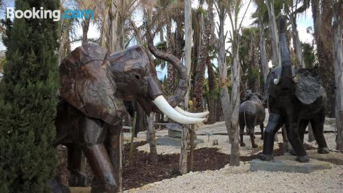
[[[289,51],[286,42],[286,18],[281,16],[280,18],[280,47],[281,47],[281,81],[287,81],[286,79],[292,79],[292,65],[289,57]]]

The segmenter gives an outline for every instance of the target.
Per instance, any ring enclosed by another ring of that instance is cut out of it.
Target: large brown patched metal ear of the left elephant
[[[108,51],[84,44],[60,65],[60,97],[86,116],[116,125],[126,115],[109,68]]]

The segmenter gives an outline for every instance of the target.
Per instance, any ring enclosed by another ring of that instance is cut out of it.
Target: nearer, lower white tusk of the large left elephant
[[[171,118],[171,120],[176,121],[177,123],[181,124],[196,124],[196,123],[202,123],[206,120],[206,118],[193,118],[193,117],[188,117],[180,114],[176,110],[174,110],[171,105],[165,100],[165,97],[162,95],[156,97],[154,101],[152,101],[156,107],[158,107],[161,112],[163,112],[166,116]]]

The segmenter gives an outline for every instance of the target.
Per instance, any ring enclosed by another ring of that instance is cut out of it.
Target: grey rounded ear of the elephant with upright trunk
[[[314,103],[324,92],[322,80],[307,69],[298,70],[297,76],[299,81],[296,84],[296,98],[307,105]]]

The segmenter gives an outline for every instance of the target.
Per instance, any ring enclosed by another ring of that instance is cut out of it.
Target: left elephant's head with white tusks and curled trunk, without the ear
[[[158,51],[149,37],[148,48],[158,58],[166,60],[178,71],[178,87],[174,95],[166,97],[158,80],[156,69],[149,51],[136,45],[110,55],[110,70],[124,101],[137,100],[141,107],[150,112],[163,112],[178,123],[200,123],[209,112],[189,113],[177,105],[187,92],[186,68],[174,55]]]

